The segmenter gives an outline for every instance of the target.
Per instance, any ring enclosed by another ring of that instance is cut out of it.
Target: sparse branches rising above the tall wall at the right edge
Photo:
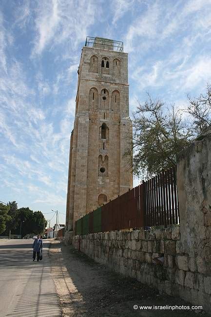
[[[211,85],[207,84],[206,94],[200,94],[198,98],[191,98],[189,95],[188,109],[186,111],[193,118],[193,128],[197,138],[211,126]]]

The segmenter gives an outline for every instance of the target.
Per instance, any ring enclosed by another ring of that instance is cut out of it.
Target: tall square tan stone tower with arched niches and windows
[[[133,187],[128,158],[128,54],[123,42],[87,38],[78,68],[70,140],[66,228]]]

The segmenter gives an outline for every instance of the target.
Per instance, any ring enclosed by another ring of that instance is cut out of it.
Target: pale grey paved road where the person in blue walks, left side
[[[32,261],[32,239],[0,240],[0,317],[61,316],[51,276],[49,241]]]

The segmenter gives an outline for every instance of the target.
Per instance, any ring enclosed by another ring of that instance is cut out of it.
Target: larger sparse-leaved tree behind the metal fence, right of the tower
[[[139,104],[133,119],[133,140],[128,150],[134,152],[133,171],[140,177],[158,174],[175,164],[176,154],[190,144],[192,131],[178,109],[164,102],[148,100]]]

